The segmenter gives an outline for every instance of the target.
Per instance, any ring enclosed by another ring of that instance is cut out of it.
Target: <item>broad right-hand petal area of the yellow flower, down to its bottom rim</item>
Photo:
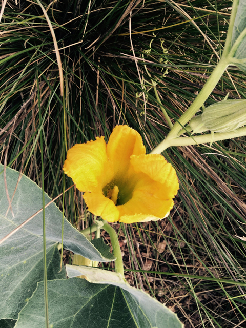
[[[173,167],[161,155],[131,156],[137,182],[132,198],[119,206],[120,221],[125,223],[162,219],[173,208],[178,178]],[[142,218],[142,219],[141,219]],[[133,221],[134,220],[134,221]]]

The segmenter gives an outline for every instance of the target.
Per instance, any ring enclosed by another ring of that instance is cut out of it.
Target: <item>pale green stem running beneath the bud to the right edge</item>
[[[246,135],[246,127],[239,128],[235,131],[225,132],[225,133],[214,133],[212,136],[211,133],[198,135],[194,137],[182,137],[182,138],[173,138],[163,140],[152,152],[151,154],[160,154],[168,147],[172,146],[192,146],[198,144],[205,144],[206,142],[211,141],[220,141],[231,138],[242,137]]]

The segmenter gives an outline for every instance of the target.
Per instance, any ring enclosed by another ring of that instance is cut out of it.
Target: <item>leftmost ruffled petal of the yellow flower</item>
[[[69,149],[63,170],[80,191],[92,191],[107,183],[110,168],[104,137]]]

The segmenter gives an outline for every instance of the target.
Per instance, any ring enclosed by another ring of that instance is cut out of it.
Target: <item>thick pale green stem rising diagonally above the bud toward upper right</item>
[[[172,130],[167,135],[167,139],[176,138],[179,131],[183,126],[187,124],[187,122],[196,114],[199,108],[204,104],[207,100],[211,92],[216,87],[218,81],[223,75],[224,71],[227,69],[229,65],[229,61],[227,58],[221,59],[218,65],[215,67],[214,71],[210,75],[204,87],[201,89],[200,93],[197,95],[196,99],[193,101],[192,105],[188,108],[188,110],[175,122]],[[158,147],[158,146],[157,146]]]

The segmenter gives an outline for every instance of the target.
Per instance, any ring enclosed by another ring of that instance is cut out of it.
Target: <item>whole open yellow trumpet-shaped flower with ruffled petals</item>
[[[176,172],[159,154],[146,155],[140,134],[116,126],[104,137],[73,146],[64,172],[85,192],[91,213],[109,222],[146,222],[168,216],[179,185]]]

